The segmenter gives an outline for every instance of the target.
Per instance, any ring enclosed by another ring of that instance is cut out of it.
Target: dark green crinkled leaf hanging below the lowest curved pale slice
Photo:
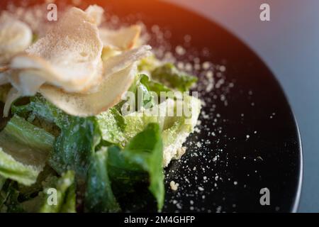
[[[49,163],[58,173],[74,170],[77,182],[84,183],[89,162],[100,141],[100,131],[96,118],[68,116],[55,140],[54,151]]]

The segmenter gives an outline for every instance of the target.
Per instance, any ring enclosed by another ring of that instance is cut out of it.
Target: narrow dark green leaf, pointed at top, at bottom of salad
[[[108,152],[102,148],[91,160],[89,167],[85,209],[89,212],[118,212],[121,208],[116,201],[111,188],[111,181],[108,177]]]

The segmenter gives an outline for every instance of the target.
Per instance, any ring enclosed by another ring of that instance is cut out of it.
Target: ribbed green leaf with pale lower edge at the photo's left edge
[[[29,186],[43,170],[55,137],[13,116],[0,132],[0,175]]]

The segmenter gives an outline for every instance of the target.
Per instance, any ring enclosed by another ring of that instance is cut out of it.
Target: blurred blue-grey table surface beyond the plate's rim
[[[319,1],[165,0],[220,23],[247,43],[274,72],[286,92],[303,143],[299,212],[319,211]],[[259,6],[271,21],[260,21]]]

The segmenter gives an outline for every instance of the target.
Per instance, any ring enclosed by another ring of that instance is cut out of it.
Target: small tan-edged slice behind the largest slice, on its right
[[[101,40],[104,48],[114,48],[116,50],[130,50],[135,48],[140,38],[142,28],[138,25],[128,28],[121,28],[112,31],[107,28],[99,28]]]

